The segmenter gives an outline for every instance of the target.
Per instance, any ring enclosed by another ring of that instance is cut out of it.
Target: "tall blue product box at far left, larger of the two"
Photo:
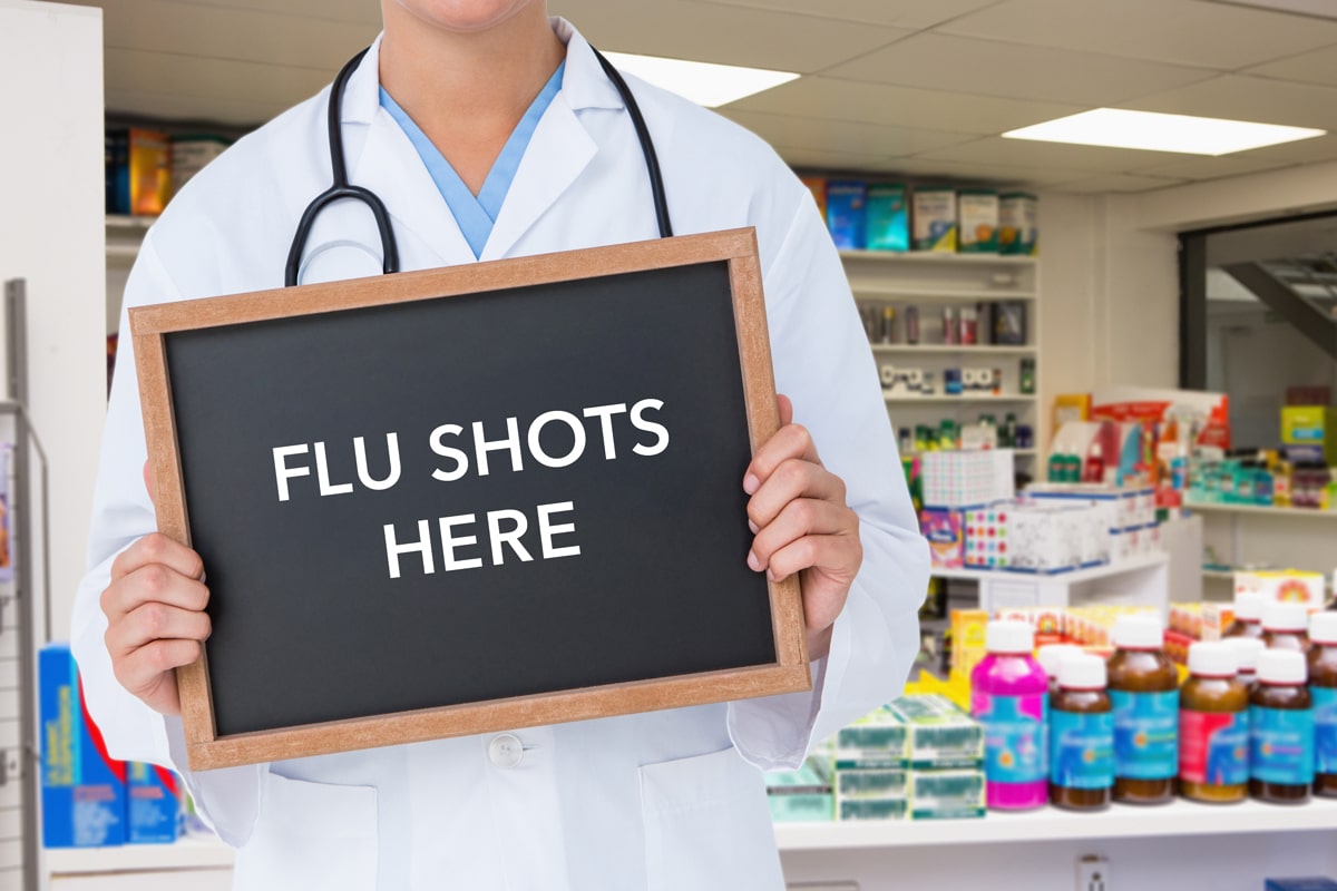
[[[70,647],[37,656],[41,840],[48,848],[126,843],[126,763],[107,753],[83,701]]]

